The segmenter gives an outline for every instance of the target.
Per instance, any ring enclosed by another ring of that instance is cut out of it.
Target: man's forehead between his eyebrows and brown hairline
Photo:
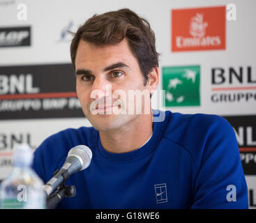
[[[80,40],[75,57],[75,67],[107,66],[111,63],[123,62],[130,66],[136,66],[137,60],[130,51],[128,41],[122,40],[116,45],[97,46]]]

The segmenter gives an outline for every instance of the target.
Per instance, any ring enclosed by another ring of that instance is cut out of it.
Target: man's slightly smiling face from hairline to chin
[[[140,117],[135,110],[136,100],[128,97],[128,91],[142,92],[149,87],[144,86],[144,77],[126,39],[104,47],[80,40],[75,68],[77,96],[94,128],[113,130]],[[143,114],[144,101],[149,106],[150,99],[142,98]],[[134,107],[133,111],[128,112],[129,107]]]

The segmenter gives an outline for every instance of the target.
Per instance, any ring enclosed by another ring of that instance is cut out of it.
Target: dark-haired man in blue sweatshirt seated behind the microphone
[[[229,123],[172,112],[160,112],[163,121],[157,121],[158,111],[149,109],[159,72],[146,20],[128,9],[94,15],[75,33],[70,52],[77,96],[93,127],[43,141],[33,169],[46,183],[70,148],[84,144],[93,158],[67,180],[77,194],[58,208],[248,208]]]

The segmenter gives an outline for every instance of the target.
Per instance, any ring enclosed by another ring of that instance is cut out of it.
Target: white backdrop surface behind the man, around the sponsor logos
[[[27,6],[27,20],[20,21],[17,9],[20,3]],[[179,8],[200,8],[207,6],[236,6],[236,20],[226,20],[226,47],[221,50],[172,52],[171,51],[171,10]],[[208,113],[221,116],[255,116],[256,99],[246,102],[212,102],[211,69],[243,68],[243,86],[256,86],[256,83],[246,82],[246,68],[251,67],[251,77],[256,80],[256,1],[225,1],[225,0],[195,0],[195,1],[147,1],[147,0],[94,0],[94,1],[33,1],[33,0],[0,0],[0,28],[13,26],[31,26],[30,47],[1,47],[0,66],[40,65],[53,63],[70,63],[70,36],[62,36],[66,28],[76,31],[80,24],[93,14],[104,13],[109,10],[130,8],[149,20],[156,33],[156,48],[160,52],[160,83],[162,89],[161,72],[168,66],[200,66],[200,105],[194,107],[167,107],[172,112]],[[1,38],[1,37],[0,37]],[[65,81],[65,80],[61,80]],[[237,83],[235,83],[237,85]],[[232,86],[236,86],[236,85]],[[238,83],[239,84],[239,83]],[[228,86],[226,82],[223,86]],[[231,86],[231,85],[230,85]],[[241,84],[239,85],[241,86]],[[233,93],[229,91],[225,93]],[[243,93],[256,93],[256,90],[244,90]],[[152,98],[153,107],[159,104],[156,95]],[[162,109],[164,109],[162,107]],[[0,120],[0,179],[5,178],[11,170],[6,160],[13,150],[13,136],[21,137],[24,142],[29,138],[33,147],[37,147],[46,137],[65,128],[79,128],[89,126],[86,118],[43,118],[28,120]],[[255,126],[255,123],[252,123]],[[253,129],[255,137],[255,128]],[[253,138],[256,140],[256,138]],[[256,146],[256,144],[255,144]],[[5,153],[5,154],[3,154]],[[5,161],[4,161],[5,160]],[[256,179],[253,175],[246,175],[248,188],[256,196]],[[256,197],[250,197],[250,207],[256,205]]]

